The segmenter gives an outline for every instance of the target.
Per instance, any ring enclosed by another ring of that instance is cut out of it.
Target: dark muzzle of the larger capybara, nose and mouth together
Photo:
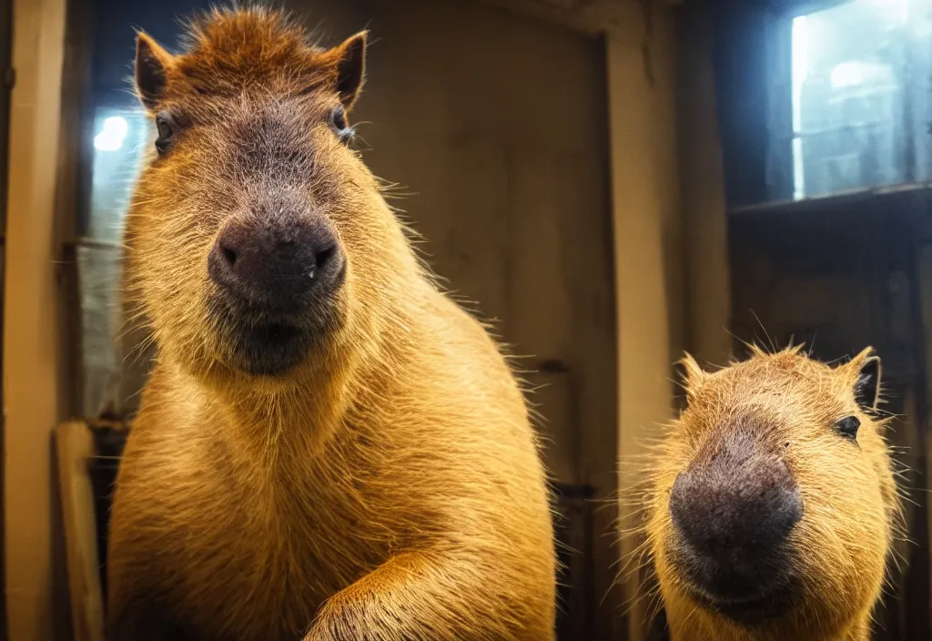
[[[280,212],[302,207],[266,204]],[[222,361],[250,375],[281,375],[299,365],[344,322],[339,292],[347,267],[336,231],[320,216],[226,221],[207,256],[208,312]]]

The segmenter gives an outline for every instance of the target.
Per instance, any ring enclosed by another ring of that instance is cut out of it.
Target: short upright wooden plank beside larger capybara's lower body
[[[94,436],[86,423],[75,421],[55,430],[55,443],[75,641],[103,641],[103,591],[88,470]]]

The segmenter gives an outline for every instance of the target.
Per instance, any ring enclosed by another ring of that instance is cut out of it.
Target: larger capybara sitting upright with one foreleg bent
[[[528,410],[352,151],[365,48],[264,8],[195,20],[179,55],[138,36],[158,138],[125,286],[158,357],[109,641],[553,638]]]

